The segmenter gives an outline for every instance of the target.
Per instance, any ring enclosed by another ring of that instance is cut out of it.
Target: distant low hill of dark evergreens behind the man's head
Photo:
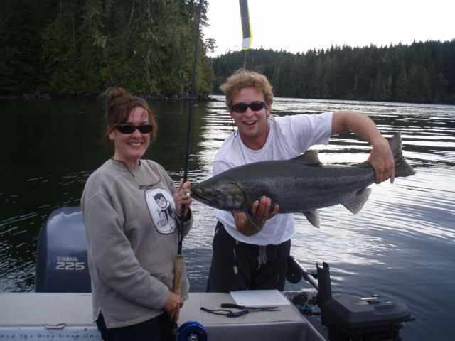
[[[277,97],[455,104],[455,39],[227,53],[213,60],[215,90],[245,57],[247,68],[269,77]]]

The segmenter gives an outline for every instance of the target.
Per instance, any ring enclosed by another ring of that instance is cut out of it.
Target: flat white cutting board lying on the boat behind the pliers
[[[231,291],[230,296],[237,305],[245,307],[264,307],[289,305],[289,301],[277,290],[240,290]]]

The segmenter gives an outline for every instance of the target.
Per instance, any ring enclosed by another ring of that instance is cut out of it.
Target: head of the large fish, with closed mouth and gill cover
[[[247,196],[235,181],[208,179],[191,186],[191,196],[210,207],[239,211],[248,205]]]

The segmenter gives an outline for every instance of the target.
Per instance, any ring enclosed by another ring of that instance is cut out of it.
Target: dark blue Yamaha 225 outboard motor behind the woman
[[[87,236],[80,207],[61,207],[38,234],[35,291],[90,293]]]

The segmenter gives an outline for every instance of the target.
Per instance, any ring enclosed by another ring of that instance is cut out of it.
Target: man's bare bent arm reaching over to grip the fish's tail
[[[390,178],[390,183],[395,180],[395,161],[388,141],[378,131],[375,122],[361,112],[334,112],[332,117],[332,134],[341,134],[353,131],[365,141],[368,141],[373,149],[368,156],[370,163],[376,172],[376,183],[382,183]]]

